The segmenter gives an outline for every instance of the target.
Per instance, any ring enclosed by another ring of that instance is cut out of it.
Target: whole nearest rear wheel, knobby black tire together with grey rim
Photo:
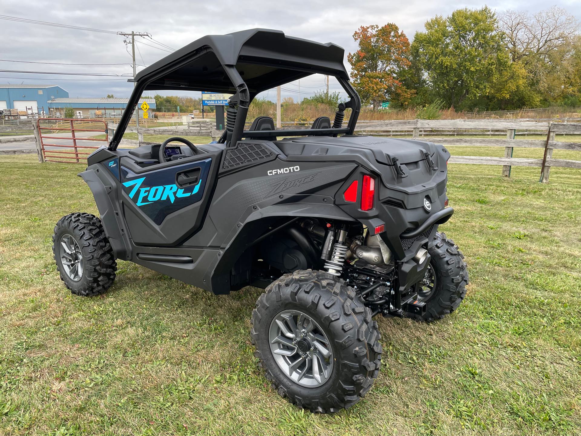
[[[285,274],[252,313],[252,343],[266,378],[312,412],[349,408],[367,393],[379,372],[379,337],[370,309],[324,271]]]

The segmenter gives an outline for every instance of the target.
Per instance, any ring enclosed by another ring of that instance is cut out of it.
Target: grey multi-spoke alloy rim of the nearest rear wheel
[[[333,352],[322,328],[299,310],[283,310],[268,330],[270,351],[278,367],[302,386],[321,386],[331,376]]]

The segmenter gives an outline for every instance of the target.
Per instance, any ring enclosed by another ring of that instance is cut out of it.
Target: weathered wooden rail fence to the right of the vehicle
[[[487,135],[490,130],[503,130],[506,139],[500,138],[465,138],[461,135]],[[451,156],[451,163],[472,163],[480,165],[502,165],[502,174],[510,177],[512,166],[540,167],[540,181],[547,183],[551,167],[566,167],[581,169],[581,160],[553,159],[553,150],[581,151],[581,137],[576,142],[555,141],[555,135],[581,135],[581,123],[553,123],[550,121],[533,120],[401,120],[401,121],[374,121],[357,123],[356,133],[392,135],[393,131],[408,132],[414,138],[422,138],[443,145],[464,146],[498,146],[504,147],[504,158],[490,158],[484,156]],[[453,133],[449,136],[437,136],[437,133],[446,131]],[[544,140],[517,140],[517,131],[540,131],[546,135]],[[429,136],[426,136],[429,133]],[[513,158],[515,147],[543,148],[543,159]]]

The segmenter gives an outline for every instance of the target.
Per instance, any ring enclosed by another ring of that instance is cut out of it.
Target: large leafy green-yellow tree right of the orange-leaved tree
[[[436,16],[415,34],[412,51],[436,98],[448,107],[464,109],[492,91],[492,84],[509,67],[504,34],[497,30],[494,12],[458,9]]]

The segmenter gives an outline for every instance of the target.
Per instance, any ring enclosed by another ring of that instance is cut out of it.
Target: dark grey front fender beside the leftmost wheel
[[[119,210],[121,203],[117,193],[116,179],[112,176],[110,171],[99,170],[99,164],[89,167],[86,171],[78,174],[82,177],[85,183],[89,185],[99,215],[101,216],[101,223],[105,229],[109,244],[113,248],[113,253],[117,259],[130,260],[131,259],[131,244],[127,232],[127,227],[123,222],[123,217]]]

